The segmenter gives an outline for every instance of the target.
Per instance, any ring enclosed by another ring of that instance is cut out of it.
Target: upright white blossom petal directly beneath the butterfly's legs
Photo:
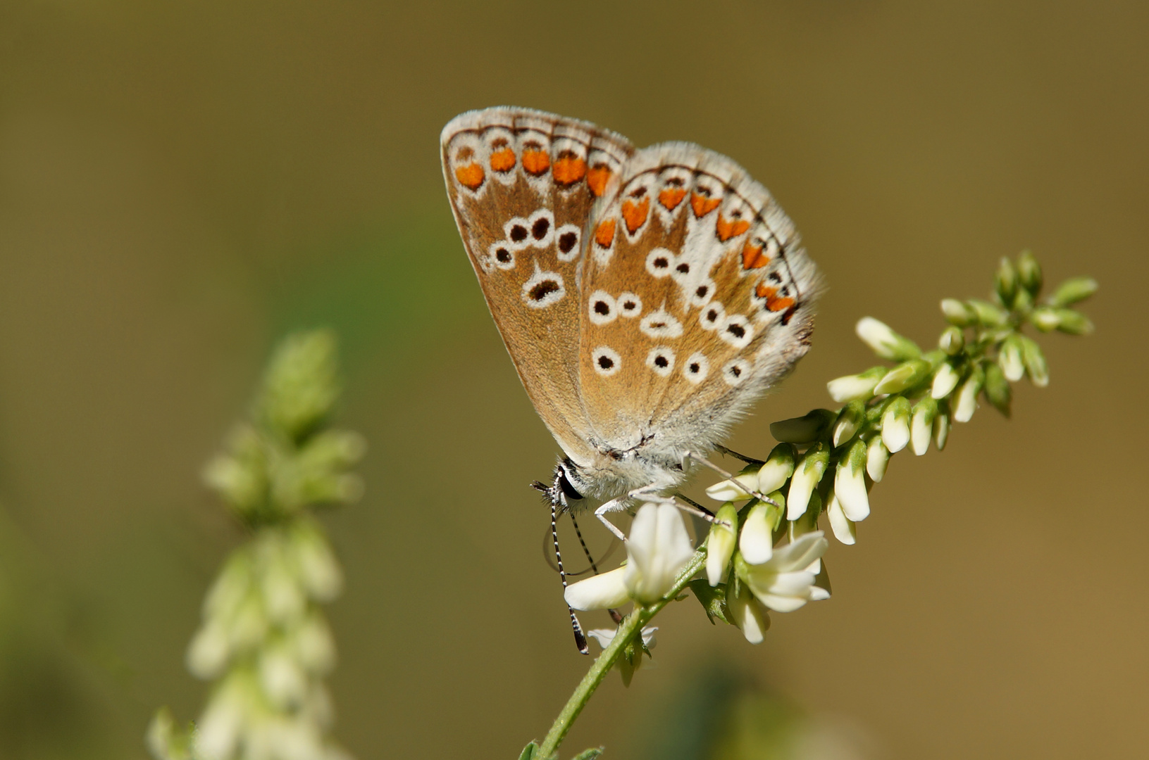
[[[623,582],[631,598],[639,604],[661,599],[694,556],[678,507],[643,504],[631,522],[626,556]]]

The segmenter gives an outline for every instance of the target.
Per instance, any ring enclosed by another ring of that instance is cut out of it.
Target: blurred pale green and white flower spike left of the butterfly
[[[205,480],[250,530],[208,591],[187,669],[213,681],[188,731],[167,709],[148,730],[157,760],[291,758],[344,760],[326,736],[333,720],[323,677],[336,664],[321,611],[342,588],[342,573],[317,506],[358,498],[348,468],[362,436],[326,429],[339,397],[336,341],[325,331],[279,346],[252,421],[208,464]]]

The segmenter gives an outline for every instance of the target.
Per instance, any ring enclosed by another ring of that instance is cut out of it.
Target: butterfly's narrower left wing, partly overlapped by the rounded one
[[[455,222],[518,377],[558,444],[586,462],[578,273],[591,210],[634,148],[520,108],[462,114],[441,146]]]

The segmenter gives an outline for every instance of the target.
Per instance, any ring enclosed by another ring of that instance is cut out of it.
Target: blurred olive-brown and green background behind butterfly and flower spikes
[[[932,341],[1025,247],[1102,284],[1012,421],[894,462],[834,599],[757,647],[674,605],[566,749],[702,757],[700,716],[758,709],[853,737],[822,758],[1141,754],[1147,40],[1116,0],[0,5],[0,757],[144,758],[155,707],[195,716],[184,650],[241,540],[199,473],[313,325],[371,447],[326,518],[336,735],[510,758],[545,732],[587,666],[526,488],[556,448],[438,163],[442,124],[501,103],[701,142],[794,218],[831,290],[739,450],[870,365],[863,315]]]

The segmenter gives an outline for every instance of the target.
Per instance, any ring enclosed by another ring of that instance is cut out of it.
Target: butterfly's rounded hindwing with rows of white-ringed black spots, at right
[[[789,219],[732,161],[639,150],[595,210],[579,386],[595,440],[708,449],[809,347],[819,281]]]

